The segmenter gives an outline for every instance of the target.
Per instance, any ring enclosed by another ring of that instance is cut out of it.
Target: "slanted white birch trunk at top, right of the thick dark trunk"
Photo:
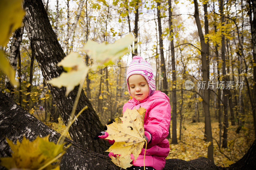
[[[75,21],[74,23],[72,24],[72,26],[70,27],[69,31],[68,31],[68,35],[67,37],[65,38],[65,41],[62,45],[62,49],[65,50],[65,48],[67,47],[67,44],[68,44],[68,40],[70,39],[71,37],[71,34],[74,33],[75,29],[76,29],[76,25],[78,23],[78,20],[79,20],[79,17],[81,15],[81,11],[83,9],[83,6],[84,6],[84,0],[80,0],[79,2],[79,5],[78,5],[78,9],[77,9],[77,14],[76,14],[76,18],[75,18]]]

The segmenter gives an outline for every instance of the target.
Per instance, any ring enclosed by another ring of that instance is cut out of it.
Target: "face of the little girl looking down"
[[[140,74],[133,74],[128,78],[132,98],[141,101],[148,97],[149,87],[147,80]]]

